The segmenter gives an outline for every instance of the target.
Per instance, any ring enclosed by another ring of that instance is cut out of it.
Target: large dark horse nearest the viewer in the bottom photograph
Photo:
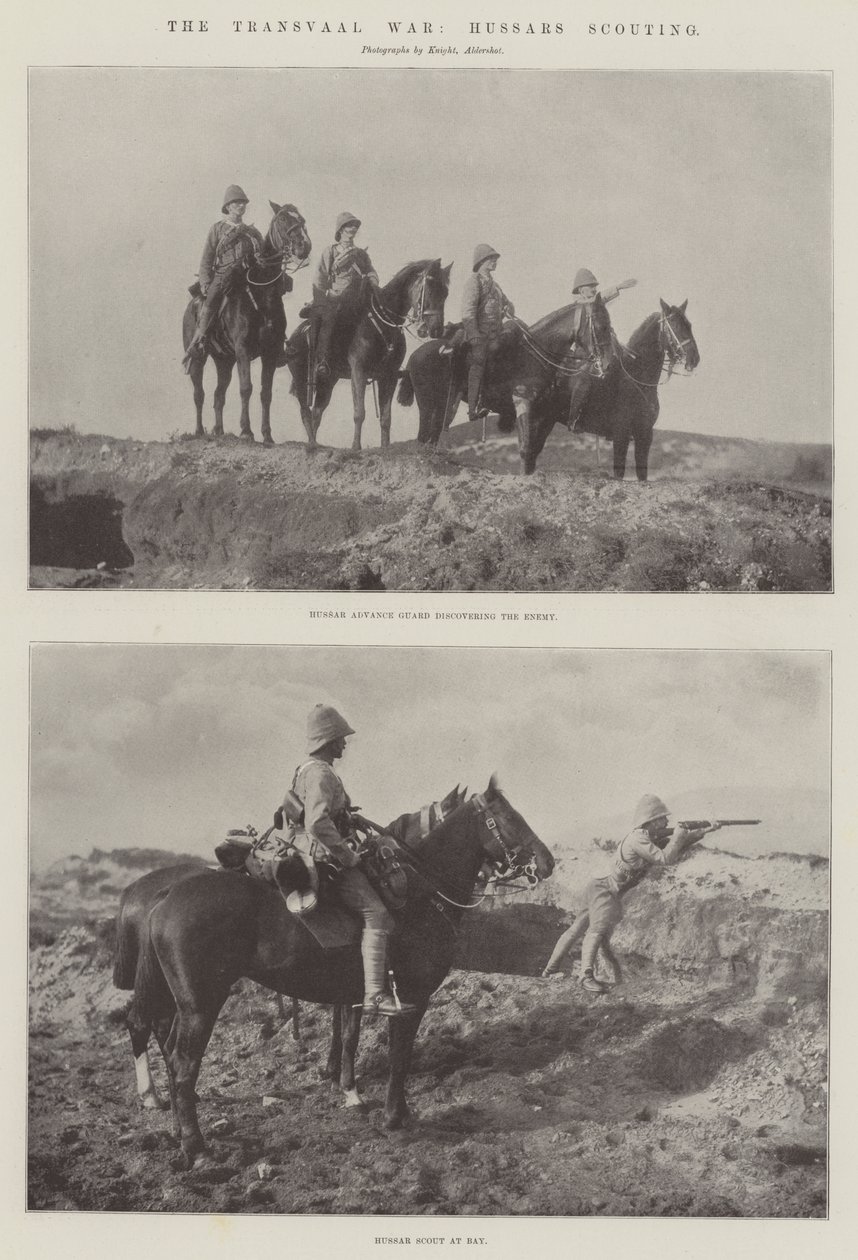
[[[406,1079],[431,994],[449,973],[455,924],[480,868],[505,876],[551,874],[554,859],[494,777],[483,795],[454,809],[403,858],[408,895],[389,960],[398,992],[416,1011],[391,1021],[384,1124],[407,1115]],[[180,879],[149,916],[135,1000],[164,1053],[176,1137],[190,1167],[204,1149],[195,1084],[218,1013],[239,978],[306,1002],[354,1005],[363,997],[357,945],[323,950],[283,907],[277,891],[239,873]]]

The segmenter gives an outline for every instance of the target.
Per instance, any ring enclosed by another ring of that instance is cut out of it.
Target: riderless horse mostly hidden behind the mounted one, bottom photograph
[[[423,835],[427,835],[433,827],[437,827],[438,823],[443,822],[447,814],[456,805],[461,805],[464,794],[464,790],[460,789],[459,784],[456,784],[452,791],[447,793],[447,795],[440,801],[433,801],[431,805],[423,805],[422,809],[412,814],[401,814],[398,818],[393,819],[387,828],[384,828],[384,832],[393,835],[403,844],[411,844],[415,840],[421,839]],[[212,868],[202,858],[198,861],[181,862],[175,866],[161,867],[157,871],[149,871],[122,891],[120,897],[120,908],[116,916],[116,945],[113,951],[115,988],[134,989],[137,965],[149,934],[149,915],[157,902],[165,897],[170,888],[180,879],[186,879],[190,876],[199,874],[202,871],[208,869]],[[277,994],[277,997],[280,999],[278,1012],[281,1018],[285,1019],[286,1012],[282,1007],[282,997],[281,994]],[[292,1040],[297,1041],[300,1033],[297,1026],[297,1002],[295,999],[292,1000],[291,1022]],[[340,1021],[336,1018],[336,1013],[334,1023],[336,1028],[334,1036],[336,1038],[340,1027]],[[129,1031],[129,1037],[131,1038],[131,1053],[134,1055],[135,1079],[137,1086],[137,1102],[146,1110],[163,1110],[169,1106],[169,1104],[161,1100],[155,1087],[151,1065],[149,1062],[149,1038],[152,1032],[151,1024],[141,1016],[139,1005],[134,999],[126,1013],[125,1024]],[[346,1056],[349,1053],[349,1046],[350,1040],[346,1045]],[[355,1047],[357,1038],[355,1045],[350,1050],[352,1079],[354,1079]],[[340,1047],[336,1052],[338,1065],[340,1063],[341,1055],[343,1050]],[[331,1060],[333,1058],[334,1052],[331,1051]],[[348,1079],[348,1060],[343,1071],[345,1072],[344,1079]]]

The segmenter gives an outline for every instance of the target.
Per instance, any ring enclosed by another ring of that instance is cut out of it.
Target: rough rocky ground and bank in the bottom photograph
[[[129,995],[110,971],[121,886],[171,861],[96,850],[34,877],[30,1207],[825,1215],[827,859],[701,850],[635,890],[615,937],[626,983],[603,997],[575,969],[534,974],[563,906],[474,915],[423,1021],[398,1133],[380,1126],[383,1028],[362,1038],[365,1109],[346,1110],[319,1079],[329,1013],[302,1007],[296,1041],[272,997],[242,984],[199,1081],[214,1158],[192,1172],[174,1167],[169,1115],[136,1106]]]

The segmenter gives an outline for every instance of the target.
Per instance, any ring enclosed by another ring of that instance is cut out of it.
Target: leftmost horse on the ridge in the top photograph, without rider
[[[262,360],[262,381],[260,399],[262,402],[262,440],[266,446],[273,445],[271,437],[271,393],[277,360],[283,353],[286,336],[286,315],[281,292],[289,292],[292,278],[287,272],[296,271],[306,263],[312,243],[307,236],[304,215],[294,205],[268,203],[275,212],[271,227],[265,238],[260,263],[251,263],[247,271],[247,285],[233,285],[227,295],[219,318],[212,325],[208,354],[192,360],[189,375],[194,386],[197,406],[195,437],[204,437],[203,370],[205,359],[210,355],[218,372],[218,384],[214,391],[214,437],[223,437],[223,404],[232,381],[233,365],[238,367],[238,382],[242,399],[241,436],[253,440],[251,430],[249,401],[253,392],[251,382],[251,363]],[[185,310],[181,326],[185,350],[197,328],[202,297],[193,297]]]

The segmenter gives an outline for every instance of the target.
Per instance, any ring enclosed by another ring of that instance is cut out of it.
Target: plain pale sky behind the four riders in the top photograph
[[[454,262],[454,319],[478,242],[500,252],[495,277],[528,323],[568,301],[581,266],[638,280],[612,306],[624,340],[659,297],[688,299],[701,367],[661,388],[659,423],[828,442],[829,150],[823,73],[33,69],[30,423],[193,428],[185,290],[237,181],[262,229],[268,199],[299,207],[311,263],[343,209],[382,282],[413,260]],[[311,272],[287,299],[291,328]],[[238,407],[234,382],[228,431]],[[252,422],[258,435],[258,393]],[[276,441],[304,438],[285,369],[272,425]],[[416,427],[394,407],[394,440]],[[319,436],[350,442],[345,383]],[[364,437],[378,444],[372,404]]]

